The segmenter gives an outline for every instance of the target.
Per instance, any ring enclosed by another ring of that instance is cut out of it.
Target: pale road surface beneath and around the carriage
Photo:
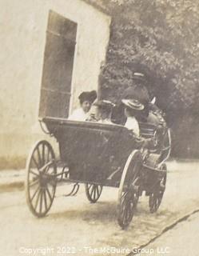
[[[69,187],[60,186],[46,218],[34,218],[26,206],[23,191],[1,193],[0,255],[128,254],[130,250],[157,237],[166,226],[199,209],[199,163],[169,162],[168,167],[167,187],[160,209],[156,214],[149,214],[148,198],[143,196],[128,230],[121,230],[117,225],[117,189],[105,188],[99,201],[90,204],[83,186],[73,198],[63,198],[62,194]],[[198,238],[199,225],[194,224],[197,221],[198,218],[193,222],[192,230],[185,228],[190,240],[196,238],[196,234]],[[169,239],[170,236],[167,236]],[[199,255],[197,248],[189,254],[187,247],[185,254],[174,254],[186,240],[183,232],[180,237],[173,233],[171,240],[174,241],[174,238],[176,246],[172,245],[173,253],[170,255]],[[165,248],[167,243],[158,239],[156,241]]]

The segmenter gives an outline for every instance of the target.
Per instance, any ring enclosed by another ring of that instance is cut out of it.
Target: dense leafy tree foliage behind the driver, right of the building
[[[157,96],[158,105],[165,110],[171,126],[176,127],[177,120],[184,120],[183,116],[188,114],[196,118],[199,2],[86,1],[112,17],[106,62],[100,75],[102,96],[116,102],[122,90],[132,85],[133,72],[139,70],[146,74],[149,92]],[[191,120],[186,127],[192,126]],[[177,132],[174,130],[174,134]]]

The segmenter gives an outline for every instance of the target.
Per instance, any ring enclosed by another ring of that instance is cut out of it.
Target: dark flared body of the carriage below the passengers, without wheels
[[[58,141],[70,181],[118,187],[122,170],[136,142],[124,126],[44,118]]]

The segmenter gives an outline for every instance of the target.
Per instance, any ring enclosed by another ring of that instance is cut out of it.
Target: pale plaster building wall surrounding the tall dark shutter
[[[0,0],[0,168],[22,165],[33,142],[45,138],[38,106],[50,10],[78,23],[70,110],[82,90],[98,90],[107,15],[81,0]]]

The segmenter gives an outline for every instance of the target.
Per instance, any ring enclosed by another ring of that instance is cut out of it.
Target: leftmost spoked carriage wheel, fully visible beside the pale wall
[[[52,146],[45,140],[37,142],[26,162],[26,202],[30,211],[43,217],[54,201],[57,166]]]

